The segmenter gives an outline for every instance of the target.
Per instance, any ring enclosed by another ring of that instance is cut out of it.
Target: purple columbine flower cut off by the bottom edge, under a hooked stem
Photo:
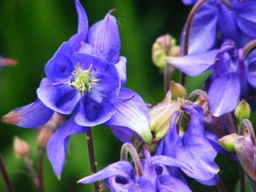
[[[128,161],[118,161],[99,172],[79,180],[79,183],[92,183],[104,180],[104,185],[112,192],[117,191],[191,191],[187,185],[168,173],[166,166],[177,166],[189,170],[189,166],[167,156],[150,156],[144,151],[143,174],[135,175],[133,166]]]

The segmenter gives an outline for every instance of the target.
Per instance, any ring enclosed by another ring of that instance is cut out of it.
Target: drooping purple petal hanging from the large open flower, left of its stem
[[[89,131],[89,128],[77,125],[72,116],[50,137],[47,143],[47,156],[59,180],[65,162],[69,136],[87,131]]]

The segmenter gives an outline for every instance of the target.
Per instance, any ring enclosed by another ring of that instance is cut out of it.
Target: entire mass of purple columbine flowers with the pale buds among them
[[[225,139],[224,147],[217,141],[224,132],[235,132],[232,120],[223,116],[232,116],[236,108],[236,117],[243,125],[240,114],[246,114],[246,102],[255,109],[256,51],[249,51],[256,44],[256,2],[183,2],[195,6],[184,27],[185,35],[181,35],[181,56],[167,54],[164,60],[190,76],[212,70],[204,85],[208,96],[196,91],[200,97],[193,103],[184,94],[174,97],[178,88],[167,91],[166,98],[155,107],[148,107],[137,93],[124,87],[126,58],[119,56],[121,43],[117,22],[110,15],[113,10],[89,28],[85,10],[75,0],[77,34],[47,62],[38,99],[1,120],[33,128],[47,123],[55,112],[68,116],[47,143],[47,155],[58,178],[69,136],[88,132],[98,124],[109,126],[125,143],[121,160],[79,181],[104,180],[100,190],[191,191],[193,180],[216,185],[219,168],[214,158],[218,152],[240,161],[250,180],[255,180],[256,144],[249,124],[233,139],[233,151],[225,149]],[[238,99],[242,102],[237,106]]]

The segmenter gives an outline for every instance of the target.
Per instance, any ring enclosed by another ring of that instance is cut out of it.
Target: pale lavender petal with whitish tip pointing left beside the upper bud
[[[189,76],[197,76],[212,68],[218,50],[194,53],[182,57],[167,57],[167,62]]]

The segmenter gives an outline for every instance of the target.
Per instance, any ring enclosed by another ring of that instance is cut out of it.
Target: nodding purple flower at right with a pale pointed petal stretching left
[[[233,41],[226,40],[217,54],[208,51],[169,57],[168,62],[190,76],[213,69],[205,89],[208,90],[210,112],[220,116],[233,111],[239,98],[245,99],[254,110],[255,101],[251,95],[255,94],[256,88],[255,55],[256,51],[253,51],[246,60],[243,59],[242,49],[236,49]]]

